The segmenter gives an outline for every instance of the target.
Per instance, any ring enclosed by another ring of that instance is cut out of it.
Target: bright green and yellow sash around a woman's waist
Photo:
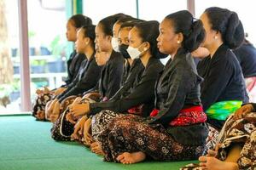
[[[227,116],[241,107],[240,100],[220,101],[210,106],[206,113],[209,118],[224,121]]]

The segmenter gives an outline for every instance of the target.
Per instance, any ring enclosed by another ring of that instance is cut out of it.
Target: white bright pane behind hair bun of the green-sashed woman
[[[246,4],[246,8],[243,8]],[[256,26],[252,22],[254,16],[256,15],[254,1],[232,1],[232,0],[214,0],[214,1],[204,1],[195,0],[195,15],[200,17],[206,8],[209,7],[220,7],[228,8],[231,11],[235,11],[244,26],[245,32],[248,34],[248,40],[256,44]]]

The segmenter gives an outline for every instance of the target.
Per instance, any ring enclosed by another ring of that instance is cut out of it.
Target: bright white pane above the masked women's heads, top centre
[[[187,9],[187,0],[139,0],[139,18],[143,20],[163,20],[167,14]]]

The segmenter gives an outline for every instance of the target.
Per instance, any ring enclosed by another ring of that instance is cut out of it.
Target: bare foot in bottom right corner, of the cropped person
[[[200,156],[199,161],[201,161],[200,166],[202,169],[207,170],[238,170],[238,165],[236,162],[220,161],[212,156]]]

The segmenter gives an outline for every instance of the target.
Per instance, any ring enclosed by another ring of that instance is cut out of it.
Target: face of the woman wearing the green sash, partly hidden
[[[206,31],[206,39],[201,46],[204,48],[209,48],[212,46],[212,43],[214,42],[214,37],[216,37],[217,32],[212,30],[212,25],[206,13],[201,14],[200,20],[202,21],[202,24]]]

